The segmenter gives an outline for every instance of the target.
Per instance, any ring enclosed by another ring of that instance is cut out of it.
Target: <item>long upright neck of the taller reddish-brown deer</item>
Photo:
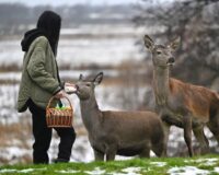
[[[153,70],[153,91],[155,95],[155,103],[159,106],[168,104],[168,96],[170,93],[170,74],[169,68],[155,67]]]

